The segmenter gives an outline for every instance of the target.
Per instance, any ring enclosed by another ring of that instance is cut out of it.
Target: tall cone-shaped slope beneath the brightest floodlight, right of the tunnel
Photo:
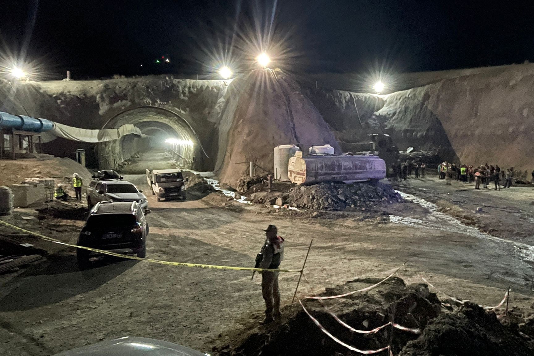
[[[273,147],[299,144],[307,150],[329,144],[341,153],[327,123],[301,87],[279,70],[256,70],[234,80],[219,127],[217,169],[223,183],[235,185],[248,162],[256,172],[272,172]]]

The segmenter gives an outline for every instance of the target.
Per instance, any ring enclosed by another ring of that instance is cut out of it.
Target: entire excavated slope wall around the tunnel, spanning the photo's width
[[[194,151],[192,167],[215,170],[230,184],[247,171],[242,162],[256,162],[258,173],[272,171],[276,145],[329,143],[340,152],[339,143],[354,151],[370,133],[388,133],[400,149],[439,147],[449,160],[534,168],[534,65],[406,74],[399,81],[404,77],[429,84],[377,97],[310,88],[280,70],[255,70],[231,82],[140,77],[20,83],[15,94],[9,86],[0,91],[0,102],[8,112],[81,128],[135,123],[142,130],[174,131],[206,152]],[[103,152],[113,159],[136,151],[135,143],[108,146]],[[46,149],[65,154],[79,147],[61,142]]]

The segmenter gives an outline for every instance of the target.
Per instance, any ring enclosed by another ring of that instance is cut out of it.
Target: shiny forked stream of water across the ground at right
[[[399,191],[395,192],[399,193],[404,200],[419,204],[421,205],[421,207],[426,208],[428,211],[430,211],[430,213],[428,215],[428,218],[425,219],[415,219],[390,215],[389,220],[391,221],[391,223],[408,226],[426,227],[446,232],[461,233],[473,236],[478,239],[513,244],[514,248],[519,252],[519,254],[524,260],[534,262],[534,246],[530,246],[521,242],[497,238],[496,236],[480,232],[476,227],[462,224],[460,220],[450,215],[447,215],[444,212],[439,211],[437,205],[434,203],[419,199],[418,197],[415,197],[411,194],[406,194]]]

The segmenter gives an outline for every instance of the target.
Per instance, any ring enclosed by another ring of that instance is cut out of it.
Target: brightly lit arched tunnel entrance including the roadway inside
[[[206,154],[187,121],[170,110],[140,107],[112,117],[104,129],[124,124],[137,126],[142,136],[128,135],[98,145],[100,169],[143,173],[145,169],[179,168],[203,170]],[[174,164],[173,162],[176,162]]]

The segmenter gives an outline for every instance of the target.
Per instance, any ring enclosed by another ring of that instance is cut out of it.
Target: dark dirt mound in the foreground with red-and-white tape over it
[[[378,279],[357,279],[325,295],[337,295],[368,286]],[[357,334],[337,322],[323,305],[303,300],[308,312],[333,336],[360,350],[377,350],[389,345],[391,327],[375,334]],[[425,284],[405,286],[391,278],[379,287],[345,298],[325,300],[329,311],[359,330],[371,330],[386,324],[395,305],[395,322],[407,328],[419,328],[421,335],[394,329],[392,353],[400,355],[530,355],[534,345],[511,327],[501,325],[493,312],[475,304],[466,304],[450,312],[441,307],[435,294]],[[311,321],[299,304],[282,310],[282,320],[268,326],[249,326],[229,331],[230,336],[214,347],[218,356],[340,356],[360,355],[334,342]],[[221,338],[223,338],[221,336]],[[378,355],[387,355],[382,351]]]

